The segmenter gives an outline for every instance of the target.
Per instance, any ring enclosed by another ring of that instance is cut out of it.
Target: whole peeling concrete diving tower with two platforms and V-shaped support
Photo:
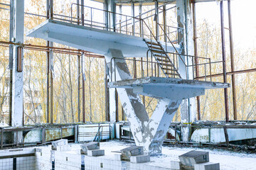
[[[185,56],[178,53],[181,47],[161,42],[151,31],[150,33],[153,40],[47,20],[30,30],[27,36],[105,55],[108,77],[110,80],[114,79],[109,83],[110,120],[116,115],[116,89],[136,145],[143,146],[144,152],[148,154],[161,154],[164,137],[183,99],[201,96],[206,89],[228,88],[230,85],[181,79],[180,72],[184,72],[185,69],[190,72],[183,60]],[[149,51],[151,62],[148,62],[147,57],[146,67],[151,65],[151,69],[158,69],[158,74],[164,77],[132,79],[125,57],[146,57]],[[146,112],[140,94],[159,99],[151,118]]]

